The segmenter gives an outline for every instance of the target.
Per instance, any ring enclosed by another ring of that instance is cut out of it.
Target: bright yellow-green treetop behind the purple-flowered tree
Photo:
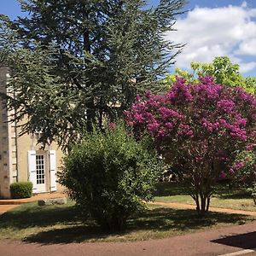
[[[173,84],[176,81],[176,76],[182,77],[190,83],[197,83],[201,76],[211,76],[217,84],[241,86],[247,92],[256,93],[256,78],[244,78],[239,73],[239,65],[233,64],[227,56],[215,57],[212,63],[191,62],[190,67],[192,73],[177,68],[175,74],[166,75],[164,83]]]

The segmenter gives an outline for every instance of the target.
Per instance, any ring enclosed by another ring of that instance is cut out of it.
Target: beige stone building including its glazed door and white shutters
[[[0,91],[6,93],[9,71],[0,68]],[[0,198],[9,198],[9,185],[31,181],[33,193],[61,190],[56,181],[56,172],[61,166],[63,153],[55,143],[40,149],[37,135],[19,136],[20,127],[10,122],[6,102],[0,98]]]

